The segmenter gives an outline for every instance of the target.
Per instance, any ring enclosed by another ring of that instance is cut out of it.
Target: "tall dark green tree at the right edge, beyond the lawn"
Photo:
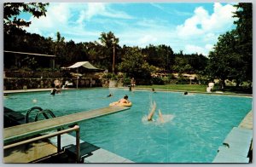
[[[218,43],[209,54],[207,71],[212,78],[252,82],[253,76],[253,26],[252,3],[238,3],[234,17],[236,30],[218,37]]]

